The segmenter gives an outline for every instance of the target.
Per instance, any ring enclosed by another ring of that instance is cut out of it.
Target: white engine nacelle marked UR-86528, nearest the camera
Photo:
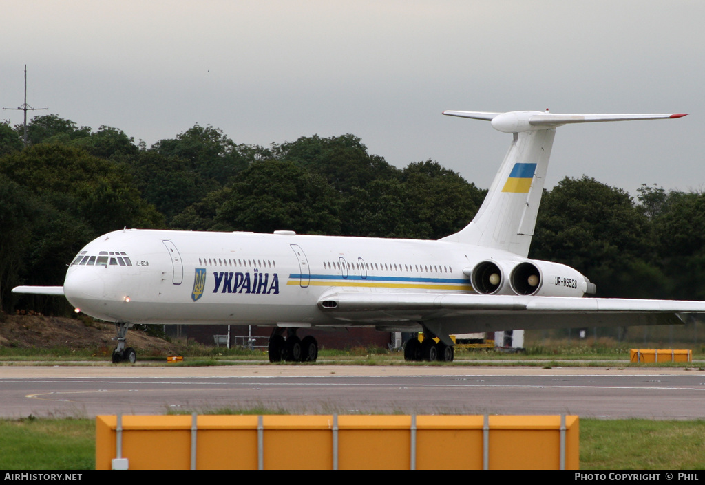
[[[595,286],[580,272],[565,264],[525,261],[517,264],[509,276],[517,295],[572,296],[594,295]]]

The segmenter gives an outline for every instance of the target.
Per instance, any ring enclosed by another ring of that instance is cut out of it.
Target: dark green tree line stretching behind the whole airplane
[[[0,310],[61,314],[66,264],[123,228],[438,239],[467,225],[486,190],[436,161],[404,168],[354,135],[238,144],[194,125],[151,147],[118,128],[54,114],[0,123]],[[642,185],[636,199],[593,178],[546,190],[529,257],[575,267],[603,297],[705,299],[705,196]]]

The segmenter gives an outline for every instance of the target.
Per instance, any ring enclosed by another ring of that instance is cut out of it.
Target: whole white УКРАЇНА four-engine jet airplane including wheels
[[[63,295],[75,312],[114,322],[112,360],[130,363],[134,324],[271,326],[271,362],[317,360],[317,340],[300,338],[306,329],[423,331],[423,343],[405,344],[405,360],[451,362],[455,333],[681,324],[682,314],[705,313],[705,302],[592,297],[595,285],[579,271],[528,258],[556,128],[684,113],[443,114],[513,136],[477,215],[458,233],[411,240],[125,228],[83,247],[63,286],[13,293]]]

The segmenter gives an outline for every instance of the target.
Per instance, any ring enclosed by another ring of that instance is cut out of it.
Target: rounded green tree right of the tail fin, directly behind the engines
[[[529,256],[568,264],[603,297],[658,297],[649,221],[624,190],[594,178],[564,178],[544,194]]]

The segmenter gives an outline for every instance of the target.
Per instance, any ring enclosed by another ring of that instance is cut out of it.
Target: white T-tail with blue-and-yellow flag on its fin
[[[490,121],[514,139],[482,207],[462,231],[442,240],[492,247],[527,257],[534,235],[556,128],[568,123],[680,118],[685,113],[553,114],[541,111],[484,113],[443,111],[448,116]]]

